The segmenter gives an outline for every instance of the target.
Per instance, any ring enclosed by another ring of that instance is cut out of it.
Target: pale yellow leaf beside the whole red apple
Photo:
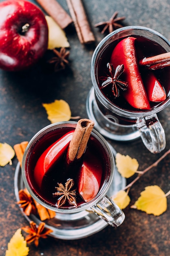
[[[70,47],[64,30],[50,16],[45,16],[45,18],[49,28],[48,49]]]

